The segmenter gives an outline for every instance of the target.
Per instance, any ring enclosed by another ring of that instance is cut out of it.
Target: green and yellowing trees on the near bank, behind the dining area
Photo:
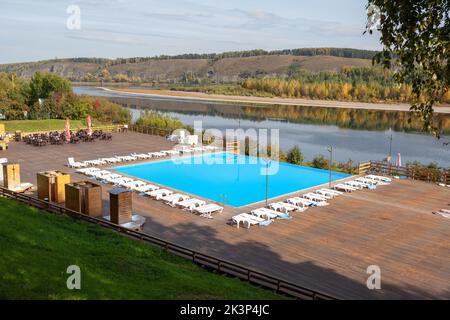
[[[80,120],[88,114],[108,123],[128,123],[131,119],[120,105],[101,97],[76,95],[69,81],[44,72],[36,72],[30,80],[0,73],[0,114],[6,120]]]

